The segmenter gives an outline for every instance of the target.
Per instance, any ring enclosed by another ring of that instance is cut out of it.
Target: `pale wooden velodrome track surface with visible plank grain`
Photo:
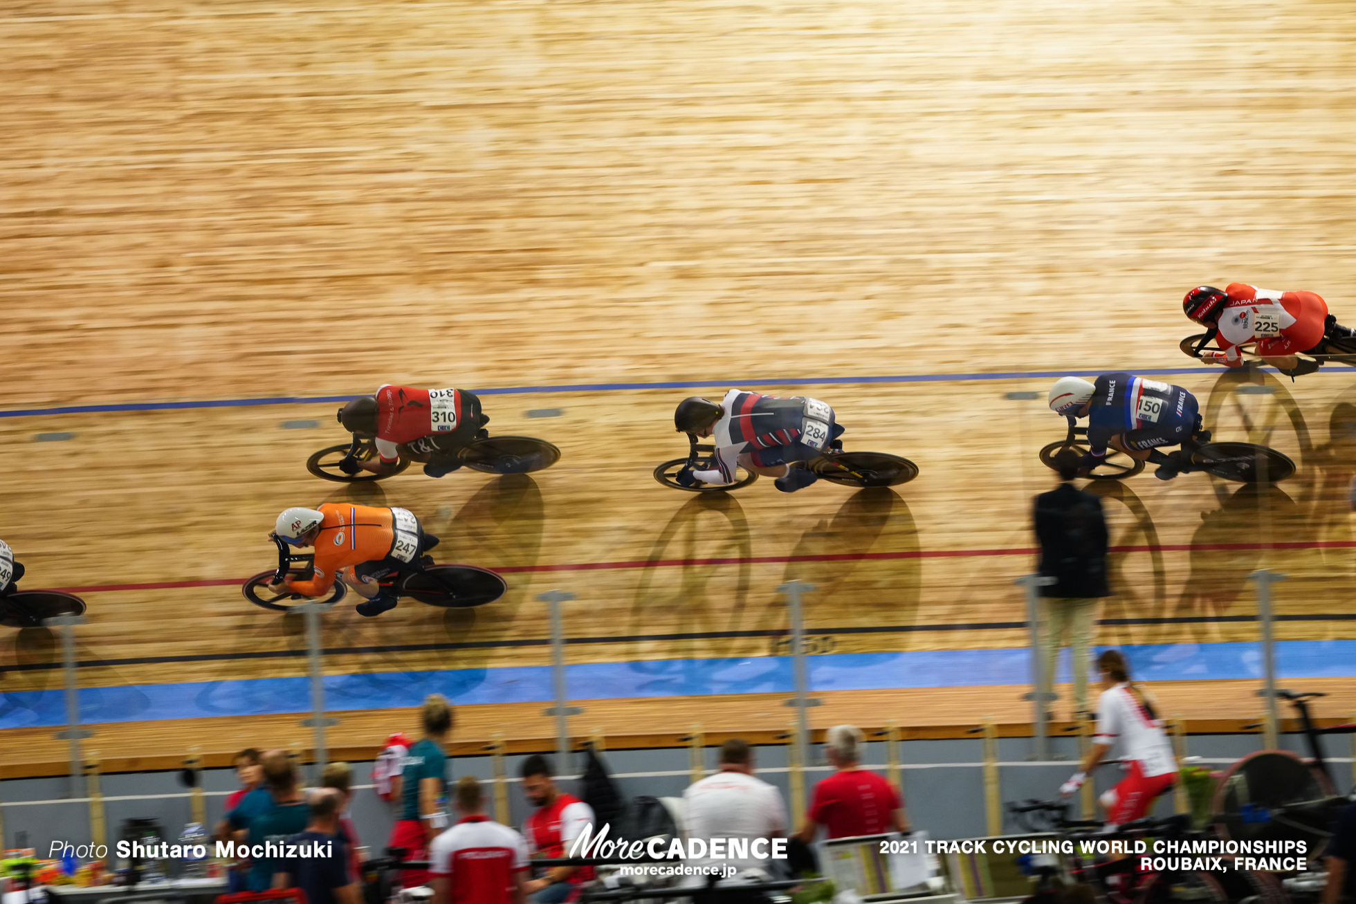
[[[1356,321],[1353,33],[1317,1],[9,4],[0,408],[534,386],[485,394],[491,430],[564,458],[346,489],[302,466],[343,440],[334,403],[9,416],[0,537],[24,587],[85,588],[87,687],[304,675],[301,626],[237,581],[271,565],[281,508],[324,500],[408,507],[439,561],[510,580],[475,613],[344,604],[331,672],[546,664],[510,642],[549,636],[534,596],[557,587],[579,596],[570,636],[597,638],[572,661],[765,656],[791,577],[820,587],[807,621],[835,652],[1021,646],[1012,580],[1051,482],[1035,451],[1063,430],[1005,398],[1044,394],[1050,377],[1022,374],[1191,367],[1178,301],[1201,282],[1311,289]],[[861,382],[945,374],[975,378]],[[1291,575],[1281,614],[1311,617],[1280,638],[1356,636],[1338,407],[1356,373],[1267,377],[1269,397],[1204,366],[1161,378],[1218,438],[1302,469],[1262,493],[1101,488],[1123,548],[1102,642],[1253,640],[1237,617],[1257,567]],[[549,389],[711,379],[811,392],[849,449],[922,474],[698,499],[650,476],[683,453],[670,412],[698,390]],[[563,413],[526,416],[546,408]],[[0,634],[5,694],[58,687],[57,665],[46,632]],[[1253,721],[1242,684],[1174,702]],[[1356,680],[1310,684],[1336,691],[1322,713],[1356,707]],[[815,720],[1018,722],[1020,690],[848,694]],[[776,731],[789,710],[767,699],[589,718],[662,735],[719,710]],[[468,731],[548,737],[538,712],[491,706]],[[167,744],[306,740],[294,721],[111,724],[95,745],[152,763]],[[354,714],[336,743],[391,725]],[[5,775],[64,768],[52,731],[0,732]]]

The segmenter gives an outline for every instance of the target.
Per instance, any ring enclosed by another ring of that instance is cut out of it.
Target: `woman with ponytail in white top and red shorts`
[[[1097,657],[1097,667],[1105,689],[1097,701],[1097,736],[1088,758],[1059,793],[1067,797],[1082,787],[1119,740],[1121,762],[1128,764],[1125,778],[1097,800],[1106,810],[1109,824],[1124,825],[1143,817],[1154,800],[1173,786],[1177,756],[1162,720],[1143,691],[1130,682],[1125,659],[1109,649]]]

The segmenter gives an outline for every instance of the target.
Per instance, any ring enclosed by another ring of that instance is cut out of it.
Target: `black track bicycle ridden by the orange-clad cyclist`
[[[335,580],[330,591],[320,598],[311,598],[302,594],[287,591],[285,587],[277,591],[270,590],[270,584],[278,584],[286,579],[311,580],[315,576],[315,554],[296,553],[281,538],[273,538],[278,546],[278,567],[273,571],[259,572],[250,577],[240,588],[244,598],[255,606],[275,613],[287,613],[305,603],[321,603],[332,606],[348,592],[347,584]],[[415,560],[408,573],[399,579],[395,587],[396,596],[410,596],[443,609],[471,609],[492,603],[504,595],[509,584],[504,579],[476,565],[437,565],[431,556]]]

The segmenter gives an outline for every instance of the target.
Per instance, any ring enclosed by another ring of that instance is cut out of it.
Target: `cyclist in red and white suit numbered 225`
[[[1352,339],[1356,329],[1342,327],[1328,313],[1328,302],[1313,291],[1277,291],[1231,282],[1220,291],[1196,286],[1182,298],[1182,312],[1205,327],[1205,342],[1215,339],[1223,351],[1201,359],[1226,367],[1242,367],[1239,346],[1256,342],[1256,352],[1287,377],[1318,370],[1318,362],[1295,352],[1314,352],[1323,339]]]

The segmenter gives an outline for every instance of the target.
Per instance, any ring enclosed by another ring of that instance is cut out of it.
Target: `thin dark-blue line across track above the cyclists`
[[[635,389],[701,389],[705,386],[822,386],[829,384],[934,384],[967,379],[1036,379],[1047,377],[1096,377],[1101,370],[1014,370],[993,374],[899,374],[894,377],[785,377],[777,379],[675,379],[637,384],[563,384],[560,386],[500,386],[472,389],[477,396],[522,396],[561,392],[625,392]],[[1159,367],[1136,370],[1136,374],[1196,374],[1210,373],[1200,367]],[[14,408],[0,411],[0,417],[38,417],[45,415],[88,415],[113,411],[182,411],[186,408],[250,408],[254,405],[316,405],[348,401],[357,396],[264,396],[263,398],[206,398],[190,401],[132,401],[107,405],[61,405],[57,408]]]

